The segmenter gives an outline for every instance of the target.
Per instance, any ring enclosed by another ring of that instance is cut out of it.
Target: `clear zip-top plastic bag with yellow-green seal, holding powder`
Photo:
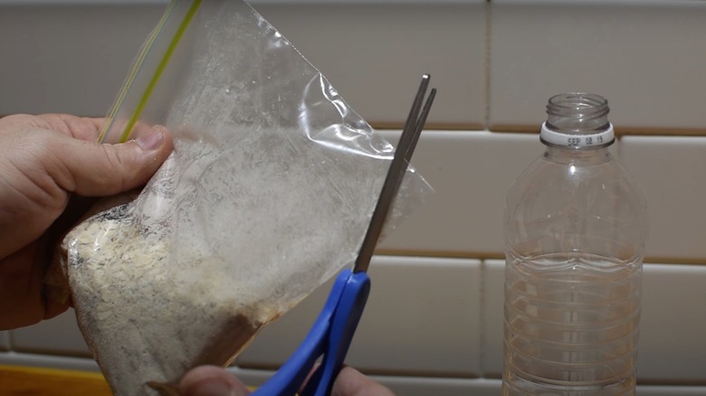
[[[325,33],[325,32],[322,32]],[[394,147],[242,1],[173,1],[103,141],[162,124],[174,153],[137,199],[63,240],[81,332],[119,395],[226,365],[351,264]],[[410,168],[392,224],[430,187]]]

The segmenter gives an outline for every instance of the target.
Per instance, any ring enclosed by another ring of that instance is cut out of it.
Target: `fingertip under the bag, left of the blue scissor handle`
[[[247,387],[221,367],[199,366],[186,372],[179,382],[179,394],[185,396],[246,396]]]

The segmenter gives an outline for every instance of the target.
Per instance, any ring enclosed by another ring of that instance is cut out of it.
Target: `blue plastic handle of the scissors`
[[[253,395],[296,394],[322,354],[321,365],[311,376],[301,396],[330,394],[363,314],[369,292],[370,278],[365,272],[354,273],[350,269],[341,271],[309,334],[280,370],[254,391]]]

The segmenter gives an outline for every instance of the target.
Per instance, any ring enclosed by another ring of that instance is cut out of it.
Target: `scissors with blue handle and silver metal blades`
[[[429,80],[428,74],[422,77],[353,269],[340,272],[309,334],[289,360],[253,395],[290,396],[298,391],[301,396],[325,396],[331,393],[370,293],[370,278],[366,273],[370,259],[434,102],[436,89],[431,90],[422,108]],[[319,358],[320,366],[301,390]]]

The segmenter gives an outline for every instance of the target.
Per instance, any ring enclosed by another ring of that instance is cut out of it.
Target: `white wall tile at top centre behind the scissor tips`
[[[483,125],[485,1],[372,3],[253,6],[368,122],[404,122],[430,73],[428,123]]]

